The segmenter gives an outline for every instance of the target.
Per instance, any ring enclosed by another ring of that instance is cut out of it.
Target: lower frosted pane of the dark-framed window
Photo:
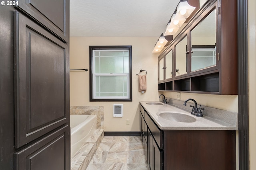
[[[96,76],[96,96],[127,96],[127,76]]]

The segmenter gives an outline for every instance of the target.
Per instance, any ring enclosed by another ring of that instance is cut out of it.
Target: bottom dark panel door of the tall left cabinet
[[[15,170],[70,170],[69,126],[14,154]]]

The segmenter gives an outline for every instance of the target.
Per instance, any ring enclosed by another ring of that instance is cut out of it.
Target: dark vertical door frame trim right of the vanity
[[[249,169],[248,2],[238,0],[239,170]]]

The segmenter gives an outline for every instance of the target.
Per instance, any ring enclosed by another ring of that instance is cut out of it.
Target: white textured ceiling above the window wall
[[[159,37],[179,0],[70,0],[70,36]]]

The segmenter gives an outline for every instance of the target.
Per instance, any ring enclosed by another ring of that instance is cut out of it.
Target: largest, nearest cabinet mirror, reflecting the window
[[[216,66],[216,10],[191,31],[191,72]]]

